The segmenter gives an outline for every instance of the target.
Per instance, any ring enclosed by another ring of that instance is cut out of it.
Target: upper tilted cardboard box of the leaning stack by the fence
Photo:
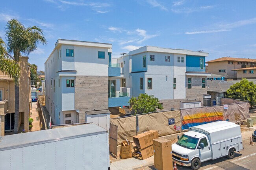
[[[158,139],[158,131],[149,130],[147,132],[133,136],[133,139],[136,146],[144,149],[153,144],[153,139]]]

